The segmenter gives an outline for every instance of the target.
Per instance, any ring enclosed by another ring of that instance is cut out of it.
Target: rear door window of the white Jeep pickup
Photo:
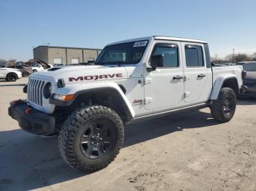
[[[203,64],[203,49],[200,46],[185,46],[186,66],[202,67]]]

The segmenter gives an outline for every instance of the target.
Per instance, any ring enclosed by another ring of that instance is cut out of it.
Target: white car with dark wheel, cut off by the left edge
[[[15,82],[22,77],[18,69],[0,68],[0,79],[6,79],[8,82]]]

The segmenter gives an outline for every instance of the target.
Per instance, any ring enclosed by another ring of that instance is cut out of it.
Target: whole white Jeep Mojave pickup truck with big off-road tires
[[[204,41],[129,39],[108,44],[95,66],[32,74],[23,89],[27,100],[12,101],[9,114],[29,133],[59,133],[64,160],[80,171],[97,171],[118,154],[129,122],[203,107],[228,122],[241,76],[241,66],[211,66]]]

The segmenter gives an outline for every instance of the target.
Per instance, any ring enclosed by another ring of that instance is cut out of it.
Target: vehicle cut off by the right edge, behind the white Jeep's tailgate
[[[241,95],[256,98],[256,61],[239,62],[237,65],[243,66],[246,71]]]

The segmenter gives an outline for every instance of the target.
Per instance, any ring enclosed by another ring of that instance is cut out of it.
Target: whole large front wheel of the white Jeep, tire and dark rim
[[[72,168],[93,172],[116,158],[123,141],[118,114],[105,106],[91,106],[69,115],[59,134],[59,150]]]

